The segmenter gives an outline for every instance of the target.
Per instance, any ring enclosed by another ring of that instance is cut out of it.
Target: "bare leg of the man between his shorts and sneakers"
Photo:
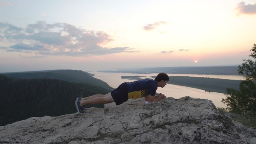
[[[92,95],[94,96],[94,95]],[[91,97],[92,97],[91,96]],[[111,95],[107,95],[104,97],[94,97],[87,100],[80,101],[80,105],[89,105],[89,104],[108,104],[111,102],[115,102]]]

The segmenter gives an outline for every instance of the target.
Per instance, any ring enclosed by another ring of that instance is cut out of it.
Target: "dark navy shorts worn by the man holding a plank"
[[[115,100],[116,105],[121,105],[123,102],[128,101],[128,87],[126,82],[122,83],[115,90],[111,92],[112,98]]]

